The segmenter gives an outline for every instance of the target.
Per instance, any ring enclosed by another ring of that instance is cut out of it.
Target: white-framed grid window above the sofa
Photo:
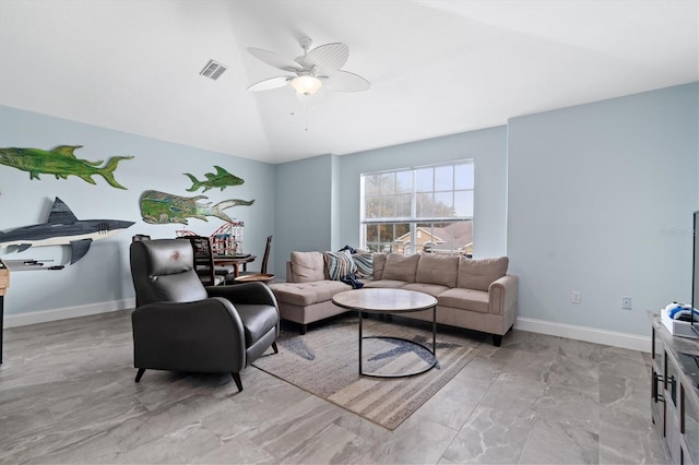
[[[362,175],[362,248],[473,252],[473,160]]]

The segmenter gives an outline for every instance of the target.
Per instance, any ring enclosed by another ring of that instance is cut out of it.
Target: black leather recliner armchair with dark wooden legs
[[[233,374],[270,346],[279,353],[280,313],[264,284],[204,286],[189,241],[132,242],[131,275],[135,382],[146,369]]]

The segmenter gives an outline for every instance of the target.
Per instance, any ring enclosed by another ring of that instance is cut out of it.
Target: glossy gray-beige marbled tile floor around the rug
[[[2,464],[665,463],[633,350],[513,331],[389,431],[253,367],[241,393],[229,375],[135,384],[128,311],[4,336]]]

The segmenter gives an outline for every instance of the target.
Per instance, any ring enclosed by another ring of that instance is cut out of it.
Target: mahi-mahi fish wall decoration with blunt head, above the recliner
[[[228,199],[212,205],[202,203],[205,195],[180,196],[161,191],[144,191],[141,194],[141,216],[145,223],[164,225],[169,223],[189,224],[187,218],[208,222],[206,216],[215,216],[224,222],[233,222],[223,211],[237,205],[252,205],[254,200]]]

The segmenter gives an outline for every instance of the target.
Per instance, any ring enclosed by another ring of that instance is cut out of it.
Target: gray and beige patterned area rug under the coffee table
[[[395,320],[365,319],[364,336],[403,337],[431,347],[429,324],[405,325]],[[262,356],[252,365],[392,430],[461,371],[481,344],[438,331],[434,369],[410,378],[359,377],[357,324],[356,315],[343,315],[305,335],[295,327],[282,330],[280,353]],[[396,339],[369,338],[363,345],[363,369],[368,372],[410,372],[425,367],[429,357],[426,349]]]

